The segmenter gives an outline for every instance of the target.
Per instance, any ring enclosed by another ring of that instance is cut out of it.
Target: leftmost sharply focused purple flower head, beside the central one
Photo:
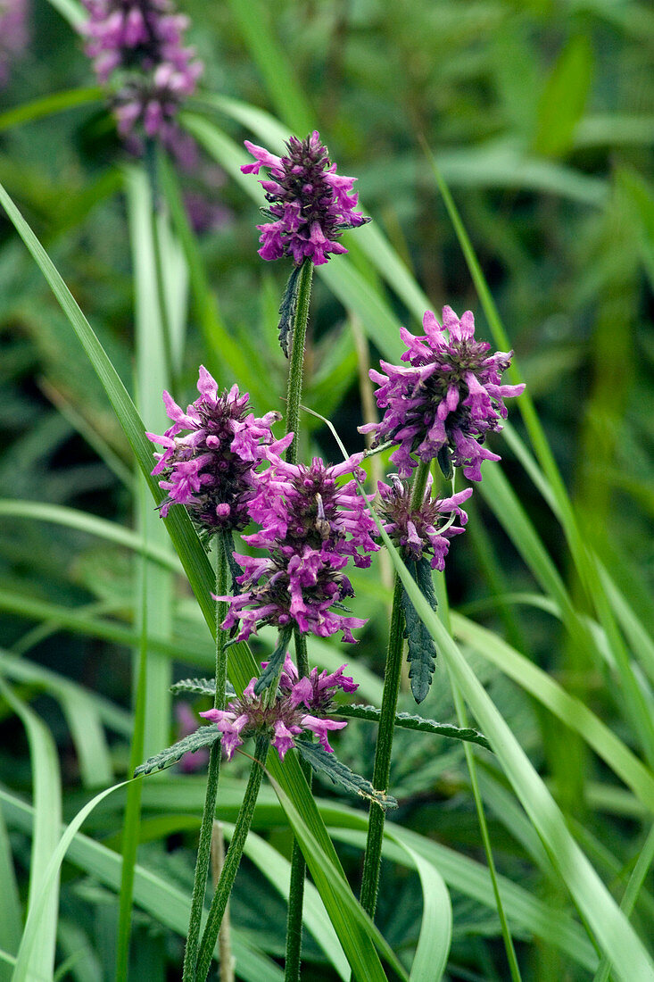
[[[161,515],[165,518],[171,505],[185,505],[206,532],[239,530],[249,521],[247,505],[256,492],[255,471],[265,449],[275,446],[270,426],[280,413],[255,417],[247,411],[247,394],[241,395],[236,385],[219,395],[203,365],[197,391],[199,398],[186,412],[164,392],[173,425],[163,436],[146,433],[148,440],[164,448],[154,455],[158,463],[152,470],[163,476],[159,487],[167,492]]]

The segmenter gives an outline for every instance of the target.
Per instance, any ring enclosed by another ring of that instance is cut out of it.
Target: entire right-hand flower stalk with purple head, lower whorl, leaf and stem
[[[383,361],[385,375],[371,369],[370,378],[379,385],[377,405],[385,412],[379,423],[359,430],[374,434],[373,446],[386,440],[398,445],[391,461],[397,464],[400,477],[390,486],[380,482],[380,514],[409,569],[413,564],[421,590],[435,604],[429,568],[444,569],[449,539],[463,531],[461,505],[471,492],[467,489],[444,501],[433,500],[431,462],[437,461],[448,477],[455,467],[462,467],[468,479],[481,480],[482,461],[500,459],[483,446],[486,435],[502,428],[501,419],[507,415],[503,400],[518,396],[524,386],[501,384],[513,353],[489,355],[490,346],[474,338],[469,310],[460,319],[446,306],[443,325],[427,310],[423,327],[423,337],[401,328],[407,346],[402,360],[409,362],[408,367]],[[409,493],[402,477],[413,473]],[[452,518],[439,527],[439,515],[447,512]],[[462,520],[462,526],[454,524],[456,518]],[[409,614],[414,612],[396,575],[373,770],[373,785],[380,791],[388,790],[390,780],[405,637],[409,638],[409,660],[415,658],[417,663],[411,664],[409,672],[409,679],[417,677],[411,685],[416,701],[426,695],[436,656],[419,620],[411,617],[409,625]],[[379,890],[384,821],[383,810],[371,803],[360,894],[361,905],[371,917]]]

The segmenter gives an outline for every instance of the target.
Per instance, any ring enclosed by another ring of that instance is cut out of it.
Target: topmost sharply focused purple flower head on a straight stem
[[[272,179],[260,182],[270,204],[264,213],[272,219],[267,225],[257,225],[261,258],[288,255],[297,266],[305,258],[319,266],[328,261],[329,252],[347,252],[338,242],[341,233],[369,219],[354,211],[355,179],[336,173],[336,164],[330,161],[318,131],[301,140],[291,136],[286,157],[278,157],[248,139],[245,146],[256,162],[245,164],[241,168],[244,174],[258,174],[266,167]]]

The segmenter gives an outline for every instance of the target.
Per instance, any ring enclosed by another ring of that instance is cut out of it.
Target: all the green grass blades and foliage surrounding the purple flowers
[[[0,979],[96,982],[126,958],[131,977],[180,974],[204,775],[136,782],[127,810],[113,786],[143,725],[136,763],[184,742],[170,682],[213,697],[215,578],[183,510],[159,519],[143,430],[166,425],[164,385],[193,398],[200,362],[257,413],[284,410],[288,269],[256,254],[264,199],[239,167],[243,138],[278,151],[313,126],[373,223],[316,271],[303,404],[362,449],[368,367],[399,357],[400,323],[418,331],[445,302],[515,349],[511,381],[527,393],[489,438],[503,462],[475,488],[447,591],[435,577],[440,620],[411,600],[424,718],[408,684],[376,928],[354,900],[365,802],[345,806],[329,783],[314,801],[297,755],[271,754],[280,798],[264,779],[233,895],[238,977],[282,978],[291,828],[311,863],[307,979],[347,979],[351,963],[382,979],[394,959],[416,980],[509,977],[475,777],[524,982],[651,977],[651,15],[506,0],[184,6],[206,65],[184,116],[206,154],[196,172],[164,155],[150,175],[126,166],[70,27],[75,0],[34,4],[25,62],[0,93],[0,194],[31,251],[0,223]],[[195,234],[197,191],[229,224]],[[303,460],[339,459],[316,419],[301,425]],[[348,657],[377,705],[383,563],[352,577],[354,614],[370,618],[359,643],[346,655],[310,639],[308,652],[330,672]],[[255,644],[229,649],[234,693],[272,632]],[[458,725],[454,691],[484,736]],[[343,767],[369,776],[376,711],[338,715]],[[474,751],[488,741],[492,755]],[[228,838],[247,764],[222,769]]]

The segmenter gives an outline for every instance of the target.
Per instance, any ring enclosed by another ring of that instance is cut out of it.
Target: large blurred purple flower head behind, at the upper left
[[[185,47],[188,18],[170,0],[83,0],[85,51],[102,84],[111,79],[118,131],[139,151],[157,136],[191,163],[194,144],[176,123],[181,102],[195,89],[202,64]]]

